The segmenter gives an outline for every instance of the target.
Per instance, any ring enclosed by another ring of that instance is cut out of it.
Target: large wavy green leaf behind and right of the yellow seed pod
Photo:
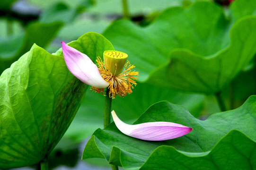
[[[116,50],[129,54],[140,72],[139,81],[214,93],[253,58],[254,27],[256,17],[240,19],[233,25],[219,6],[202,1],[190,8],[168,8],[143,28],[127,20],[116,21],[104,35]]]

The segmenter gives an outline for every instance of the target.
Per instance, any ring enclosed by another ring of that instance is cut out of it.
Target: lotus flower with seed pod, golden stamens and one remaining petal
[[[96,61],[99,68],[92,60],[80,51],[62,42],[62,52],[70,72],[82,82],[91,85],[91,89],[104,94],[104,88],[108,87],[109,97],[115,95],[124,97],[132,93],[132,85],[136,85],[139,72],[131,71],[134,65],[126,62],[127,54],[120,51],[104,51],[104,62],[100,57]],[[124,68],[124,71],[122,71]]]

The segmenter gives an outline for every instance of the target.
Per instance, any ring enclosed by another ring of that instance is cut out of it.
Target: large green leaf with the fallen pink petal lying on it
[[[117,112],[125,113],[125,110]],[[209,169],[256,168],[256,96],[251,96],[236,110],[215,113],[204,121],[194,118],[182,106],[158,102],[134,124],[152,121],[175,122],[193,130],[176,139],[149,142],[122,134],[113,122],[94,132],[85,147],[83,159],[106,158],[127,170],[200,169],[201,166],[211,167]],[[232,129],[238,129],[246,136],[237,131],[229,133]]]

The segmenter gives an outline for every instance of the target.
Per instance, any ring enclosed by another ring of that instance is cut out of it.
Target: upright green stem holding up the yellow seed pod
[[[105,107],[104,107],[104,128],[110,124],[110,115],[111,115],[111,104],[112,98],[109,97],[109,89],[106,88],[106,98],[105,98]],[[112,170],[118,170],[118,166],[111,164]]]

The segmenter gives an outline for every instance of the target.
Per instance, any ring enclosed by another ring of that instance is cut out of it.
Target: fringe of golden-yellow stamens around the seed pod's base
[[[139,76],[139,72],[131,71],[132,68],[135,68],[134,65],[131,65],[129,61],[124,65],[124,71],[119,75],[114,76],[109,68],[102,62],[100,57],[96,59],[98,63],[99,73],[103,77],[103,79],[109,83],[109,97],[115,98],[115,95],[119,95],[120,97],[126,96],[126,94],[132,93],[133,85],[137,85],[134,80],[137,80]],[[104,89],[91,87],[93,91],[96,93],[104,94]]]

